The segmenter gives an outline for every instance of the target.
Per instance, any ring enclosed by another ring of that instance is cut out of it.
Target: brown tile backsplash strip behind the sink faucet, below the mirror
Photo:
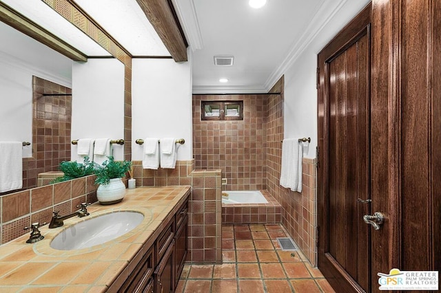
[[[31,223],[49,223],[54,210],[65,215],[82,202],[96,202],[94,180],[90,175],[0,197],[0,244],[28,234],[23,228]]]

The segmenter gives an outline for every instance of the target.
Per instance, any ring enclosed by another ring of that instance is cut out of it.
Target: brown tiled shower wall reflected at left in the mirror
[[[72,96],[68,87],[37,76],[32,77],[32,158],[23,159],[23,188],[37,186],[39,173],[58,171],[59,164],[70,160]]]

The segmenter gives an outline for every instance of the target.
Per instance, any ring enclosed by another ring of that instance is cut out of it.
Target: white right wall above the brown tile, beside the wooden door
[[[285,138],[311,137],[306,158],[316,158],[317,146],[317,54],[369,1],[345,1],[322,26],[285,72]]]

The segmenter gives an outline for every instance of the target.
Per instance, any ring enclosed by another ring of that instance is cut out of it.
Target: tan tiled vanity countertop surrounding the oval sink
[[[123,202],[88,206],[88,217],[73,217],[64,226],[40,228],[45,238],[25,243],[29,233],[0,246],[0,292],[105,292],[129,274],[128,266],[144,243],[150,247],[164,226],[185,202],[189,186],[141,187],[126,190]],[[54,250],[49,244],[63,229],[104,213],[132,210],[144,220],[127,234],[99,246],[81,250]]]

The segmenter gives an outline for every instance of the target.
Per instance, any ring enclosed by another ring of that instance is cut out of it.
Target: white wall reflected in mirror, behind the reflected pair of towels
[[[72,140],[80,138],[124,138],[124,65],[114,58],[72,62]],[[112,149],[124,160],[123,146]],[[76,160],[76,146],[71,153]]]

